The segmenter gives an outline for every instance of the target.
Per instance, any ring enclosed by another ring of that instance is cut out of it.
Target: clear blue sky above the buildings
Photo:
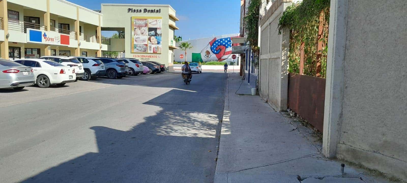
[[[239,0],[68,0],[92,10],[100,10],[101,3],[123,4],[170,4],[176,11],[179,30],[183,40],[239,33]],[[129,19],[130,21],[130,19]],[[110,37],[112,32],[103,32]]]

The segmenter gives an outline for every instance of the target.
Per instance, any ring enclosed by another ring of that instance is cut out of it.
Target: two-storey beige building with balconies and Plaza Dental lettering
[[[101,8],[100,13],[66,0],[1,0],[1,58],[100,57],[102,51],[119,51],[172,69],[178,19],[171,6],[102,4]],[[101,30],[124,30],[127,39],[102,37]]]

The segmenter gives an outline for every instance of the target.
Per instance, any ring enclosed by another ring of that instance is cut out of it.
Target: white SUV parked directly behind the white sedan
[[[40,59],[46,59],[61,63],[62,65],[71,67],[75,69],[76,79],[78,81],[85,74],[85,70],[83,70],[83,64],[79,62],[77,58],[74,57],[64,57],[64,56],[43,56],[39,57]]]

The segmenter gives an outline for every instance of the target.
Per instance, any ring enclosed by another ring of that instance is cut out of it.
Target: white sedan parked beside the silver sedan
[[[75,69],[55,61],[45,59],[18,59],[14,61],[32,67],[35,83],[41,88],[47,88],[53,84],[63,86],[75,81]]]

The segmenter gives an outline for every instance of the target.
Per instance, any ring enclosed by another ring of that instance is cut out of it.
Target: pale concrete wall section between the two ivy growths
[[[276,111],[287,109],[289,30],[278,34],[278,21],[291,4],[284,0],[273,4],[260,23],[259,93]]]

